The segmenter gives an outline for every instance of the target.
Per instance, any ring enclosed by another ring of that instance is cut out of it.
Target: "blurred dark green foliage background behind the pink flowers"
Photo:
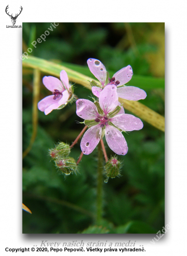
[[[164,23],[23,23],[23,52],[71,68],[90,77],[87,59],[95,58],[110,76],[131,65],[134,76],[153,77],[154,83],[141,84],[147,98],[140,101],[164,115]],[[32,41],[48,30],[50,34],[37,47]],[[76,64],[76,66],[72,65]],[[84,66],[84,67],[83,67]],[[42,83],[40,99],[50,92]],[[129,82],[133,86],[133,79]],[[135,86],[138,87],[136,84]],[[33,74],[23,69],[23,151],[32,137]],[[78,98],[90,99],[91,91],[75,84]],[[130,113],[125,111],[125,113]],[[147,122],[140,131],[124,134],[129,151],[123,160],[122,176],[103,182],[103,221],[96,226],[97,149],[84,155],[79,173],[64,178],[55,168],[48,149],[54,143],[71,144],[83,121],[76,115],[75,103],[49,115],[39,111],[37,136],[23,159],[23,233],[156,233],[164,226],[164,133]],[[108,156],[113,155],[104,140]],[[71,150],[76,160],[80,141]],[[103,159],[104,160],[104,159]],[[104,179],[104,177],[103,177]]]

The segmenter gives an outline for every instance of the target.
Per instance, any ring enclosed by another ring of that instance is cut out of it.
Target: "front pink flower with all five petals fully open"
[[[96,104],[84,99],[76,101],[77,115],[85,119],[84,124],[90,126],[81,140],[81,150],[85,155],[96,148],[104,134],[109,147],[116,154],[125,155],[128,147],[122,131],[140,130],[143,127],[139,118],[124,114],[124,109],[120,109],[116,91],[116,86],[112,84],[101,91]]]

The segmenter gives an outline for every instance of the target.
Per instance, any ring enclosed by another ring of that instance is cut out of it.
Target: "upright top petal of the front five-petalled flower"
[[[104,114],[107,115],[114,110],[118,105],[118,95],[116,92],[116,85],[107,85],[100,93],[99,104],[103,109]]]

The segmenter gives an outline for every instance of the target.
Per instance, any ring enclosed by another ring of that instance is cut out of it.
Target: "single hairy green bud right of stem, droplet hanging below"
[[[104,166],[103,174],[106,175],[105,183],[108,182],[109,177],[115,178],[116,176],[119,177],[120,169],[122,167],[122,163],[117,160],[117,157],[112,157]]]

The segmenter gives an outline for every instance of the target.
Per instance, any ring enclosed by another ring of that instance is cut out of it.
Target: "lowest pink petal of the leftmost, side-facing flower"
[[[53,109],[57,109],[60,106],[59,101],[61,101],[62,96],[60,96],[59,99],[56,100],[54,100],[53,98],[54,95],[50,95],[45,97],[38,103],[39,110],[45,112],[45,115],[48,115],[50,112],[52,112]]]

